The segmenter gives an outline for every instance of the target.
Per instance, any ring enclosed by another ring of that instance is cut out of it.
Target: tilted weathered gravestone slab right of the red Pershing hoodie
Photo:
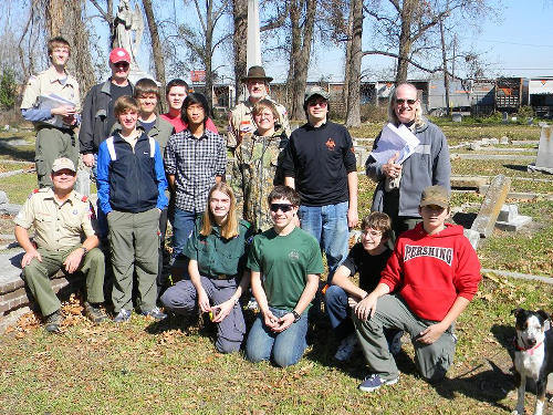
[[[509,177],[498,175],[492,179],[482,206],[480,206],[480,211],[471,227],[472,230],[480,234],[480,237],[488,238],[493,232],[495,221],[498,220],[501,207],[505,203],[510,188],[511,179]]]

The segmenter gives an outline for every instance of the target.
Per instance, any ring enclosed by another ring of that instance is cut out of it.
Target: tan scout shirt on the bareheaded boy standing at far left
[[[60,82],[60,75],[54,66],[50,66],[36,76],[31,76],[27,83],[21,101],[21,110],[32,108],[41,95],[55,94],[75,104],[76,112],[81,111],[81,95],[79,94],[79,83],[65,72],[67,79],[64,84]],[[62,76],[63,79],[63,76]]]

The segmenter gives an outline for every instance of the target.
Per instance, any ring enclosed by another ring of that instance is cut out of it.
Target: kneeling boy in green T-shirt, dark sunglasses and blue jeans
[[[275,186],[268,201],[274,226],[253,238],[248,257],[261,312],[248,335],[246,356],[284,367],[298,363],[307,346],[307,309],[324,268],[319,242],[295,226],[300,195]]]

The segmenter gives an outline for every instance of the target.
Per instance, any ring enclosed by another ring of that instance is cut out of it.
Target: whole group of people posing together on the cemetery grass
[[[397,154],[387,163],[368,157],[366,173],[378,184],[373,212],[348,249],[358,224],[357,164],[347,129],[327,120],[324,89],[306,91],[306,123],[290,132],[285,108],[269,97],[272,79],[250,68],[242,79],[249,97],[230,112],[225,139],[205,96],[181,80],[167,84],[169,112],[158,115],[156,83],[128,81],[131,56],[122,48],[109,54],[112,76],[86,94],[81,111],[79,85],[65,71],[69,43],[54,38],[48,45],[52,65],[31,77],[21,105],[38,131],[40,188],[15,218],[23,278],[48,331],[60,331],[63,319],[49,281],[60,268],[86,273],[85,314],[106,320],[104,245],[115,322],[128,321],[135,308],[156,320],[167,317],[158,305],[176,314],[199,310],[217,324],[220,352],[240,350],[248,333],[248,360],[292,365],[306,349],[310,308],[320,307],[314,299],[324,252],[322,292],[340,343],[335,357],[346,361],[361,346],[371,375],[359,388],[397,382],[393,355],[405,332],[421,375],[445,376],[455,320],[477,292],[480,266],[462,227],[446,222],[447,141],[421,116],[414,85],[397,85],[389,122],[420,144],[403,163]],[[43,105],[52,94],[64,104]],[[73,190],[79,147],[96,178],[95,208]],[[168,220],[169,263],[186,272],[167,288],[161,249]],[[259,314],[248,332],[240,299],[250,289]]]

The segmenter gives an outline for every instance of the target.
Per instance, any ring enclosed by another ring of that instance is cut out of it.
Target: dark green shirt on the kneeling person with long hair
[[[239,235],[231,239],[221,237],[221,229],[213,226],[207,237],[200,235],[201,219],[196,221],[192,236],[182,250],[182,255],[198,261],[201,276],[241,276],[248,258],[248,247],[253,236],[250,224],[240,220]]]

